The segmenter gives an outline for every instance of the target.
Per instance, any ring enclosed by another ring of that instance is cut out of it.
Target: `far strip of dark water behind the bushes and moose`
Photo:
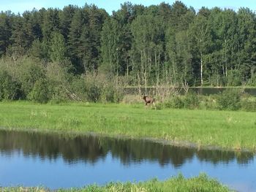
[[[161,88],[159,88],[160,93],[164,93],[164,91],[163,91],[164,89],[166,90],[166,88],[162,88],[162,90],[161,90]],[[193,91],[200,95],[208,96],[211,94],[221,93],[222,91],[225,91],[227,89],[230,89],[230,88],[189,88],[189,91]],[[151,94],[151,95],[155,95],[157,93],[156,88],[147,88],[147,91],[146,91],[146,88],[140,88],[140,91],[143,94]],[[178,93],[184,94],[184,90],[181,88],[175,88],[175,91],[178,91]],[[124,88],[124,92],[127,94],[138,94],[139,89],[138,88]],[[252,96],[256,96],[256,88],[244,88],[244,92],[248,93]]]

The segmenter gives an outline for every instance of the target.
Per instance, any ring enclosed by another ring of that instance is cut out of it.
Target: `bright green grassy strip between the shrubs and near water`
[[[1,102],[0,127],[150,137],[256,151],[255,112],[150,110],[143,104]]]

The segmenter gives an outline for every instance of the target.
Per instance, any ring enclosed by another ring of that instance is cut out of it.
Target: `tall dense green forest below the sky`
[[[126,2],[112,15],[94,4],[1,12],[0,57],[126,85],[256,85],[256,15],[244,7],[196,12],[181,1]]]

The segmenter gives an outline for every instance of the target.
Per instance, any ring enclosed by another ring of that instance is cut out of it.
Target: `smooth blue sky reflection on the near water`
[[[143,181],[157,177],[165,180],[178,173],[185,177],[195,177],[205,172],[209,177],[217,178],[221,183],[238,191],[256,191],[256,164],[238,164],[230,161],[228,164],[211,164],[208,161],[198,161],[194,156],[178,168],[171,164],[160,166],[158,161],[141,161],[124,165],[120,159],[113,158],[110,153],[96,164],[78,161],[67,164],[61,157],[56,160],[39,157],[24,157],[22,153],[3,155],[0,153],[0,185],[36,186],[48,188],[82,187],[97,183],[99,185],[110,181]]]

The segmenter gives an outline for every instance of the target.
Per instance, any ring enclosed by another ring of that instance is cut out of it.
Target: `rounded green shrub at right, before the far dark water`
[[[227,89],[217,96],[217,104],[220,110],[238,110],[241,108],[241,90]]]

